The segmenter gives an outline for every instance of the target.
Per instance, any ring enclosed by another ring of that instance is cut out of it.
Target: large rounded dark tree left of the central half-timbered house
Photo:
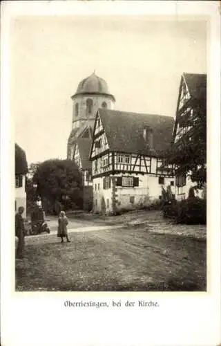
[[[75,203],[81,207],[81,173],[70,160],[50,159],[40,163],[33,176],[37,194],[52,206]]]

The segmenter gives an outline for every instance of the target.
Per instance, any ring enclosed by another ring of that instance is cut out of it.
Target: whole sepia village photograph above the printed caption
[[[206,291],[206,21],[10,21],[15,291]]]

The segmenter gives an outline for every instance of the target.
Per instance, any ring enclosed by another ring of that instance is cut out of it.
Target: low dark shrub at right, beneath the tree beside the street
[[[206,224],[206,200],[190,197],[171,201],[164,204],[163,213],[177,224]]]

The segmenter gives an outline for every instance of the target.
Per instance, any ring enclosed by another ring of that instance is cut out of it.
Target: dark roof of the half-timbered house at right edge
[[[193,98],[206,98],[206,75],[197,73],[183,73],[189,93]]]

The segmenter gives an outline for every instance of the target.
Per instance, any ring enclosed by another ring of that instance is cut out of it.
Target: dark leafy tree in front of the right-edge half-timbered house
[[[193,118],[184,118],[183,127],[191,127],[186,134],[173,143],[166,153],[169,163],[174,163],[177,174],[188,174],[191,181],[202,187],[206,182],[206,107],[195,107]]]

